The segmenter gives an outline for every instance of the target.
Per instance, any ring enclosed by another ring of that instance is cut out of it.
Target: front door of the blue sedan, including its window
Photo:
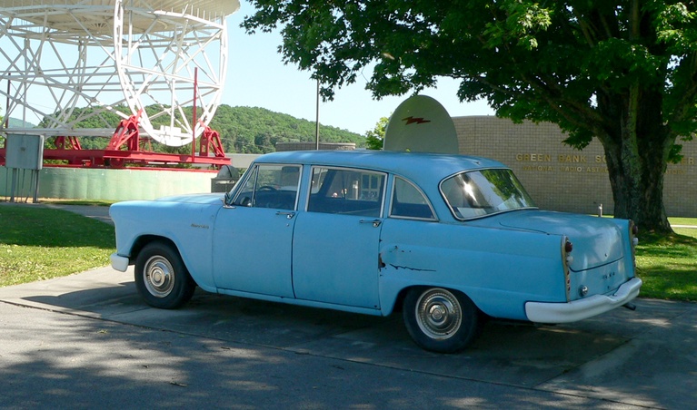
[[[218,213],[218,288],[293,298],[291,257],[300,166],[256,165],[232,207]]]

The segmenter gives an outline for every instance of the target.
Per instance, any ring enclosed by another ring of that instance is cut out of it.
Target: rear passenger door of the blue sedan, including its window
[[[314,167],[307,211],[297,215],[295,297],[380,308],[378,249],[386,175]]]

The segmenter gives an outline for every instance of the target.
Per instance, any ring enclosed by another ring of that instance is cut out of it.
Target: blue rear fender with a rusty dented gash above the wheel
[[[413,235],[413,227],[422,224]],[[423,221],[385,220],[380,300],[390,314],[403,290],[459,290],[493,317],[525,319],[528,300],[566,300],[563,236]]]

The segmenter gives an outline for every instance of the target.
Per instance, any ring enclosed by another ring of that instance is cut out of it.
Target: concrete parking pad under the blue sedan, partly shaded
[[[400,315],[333,310],[208,294],[197,290],[176,310],[147,307],[133,272],[99,268],[0,288],[0,301],[147,329],[271,347],[406,372],[632,405],[697,403],[697,307],[639,299],[637,310],[560,326],[490,321],[472,347],[438,355],[416,347]]]

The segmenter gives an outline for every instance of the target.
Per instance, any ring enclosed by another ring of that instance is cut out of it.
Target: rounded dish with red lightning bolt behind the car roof
[[[453,119],[443,105],[427,95],[414,95],[390,116],[384,150],[456,154],[460,146]]]

